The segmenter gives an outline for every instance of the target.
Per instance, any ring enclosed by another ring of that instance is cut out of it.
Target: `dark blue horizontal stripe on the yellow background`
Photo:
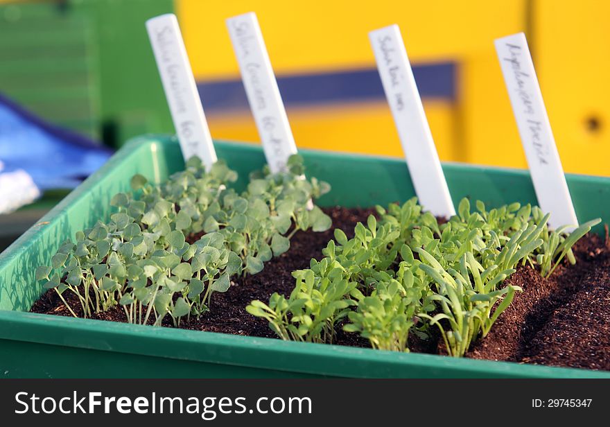
[[[413,66],[421,97],[454,101],[456,68],[453,62]],[[286,105],[366,102],[384,97],[376,69],[278,76],[277,85]],[[197,87],[206,110],[247,108],[241,80],[199,82]]]

